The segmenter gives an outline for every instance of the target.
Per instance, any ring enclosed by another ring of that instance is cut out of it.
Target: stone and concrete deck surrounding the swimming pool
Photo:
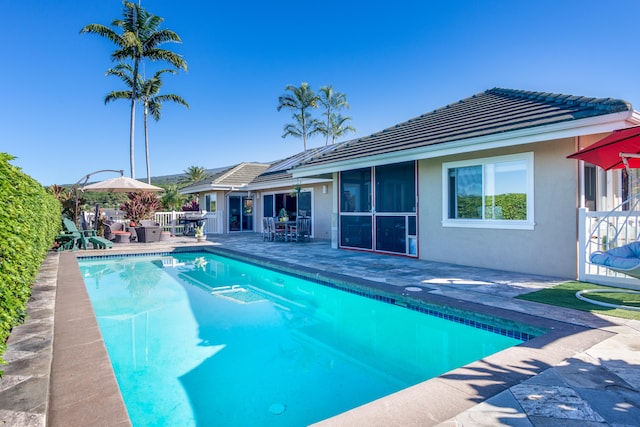
[[[173,238],[106,251],[51,253],[8,343],[0,424],[130,425],[76,256],[164,252]],[[640,322],[514,299],[556,280],[331,249],[328,242],[263,242],[257,234],[209,236],[206,248],[280,268],[549,332],[465,367],[318,423],[321,426],[625,426],[640,422]],[[410,292],[405,288],[419,288]],[[53,299],[55,298],[55,304]],[[54,316],[55,313],[55,316]],[[55,322],[54,322],[55,317]],[[53,345],[52,345],[53,344]]]

